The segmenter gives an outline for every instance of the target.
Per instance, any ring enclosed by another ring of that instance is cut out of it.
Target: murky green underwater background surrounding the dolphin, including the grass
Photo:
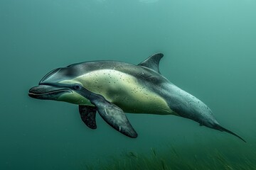
[[[0,169],[256,169],[255,0],[1,0]],[[174,115],[127,114],[131,139],[78,106],[28,97],[76,62],[139,64],[206,103],[226,132]]]

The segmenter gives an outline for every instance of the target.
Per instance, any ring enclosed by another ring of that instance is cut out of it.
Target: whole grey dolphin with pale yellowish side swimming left
[[[228,132],[205,103],[172,84],[159,72],[164,55],[151,55],[138,65],[117,61],[92,61],[53,69],[28,96],[65,101],[79,106],[80,118],[96,129],[96,112],[112,128],[137,137],[125,113],[177,115],[208,128]]]

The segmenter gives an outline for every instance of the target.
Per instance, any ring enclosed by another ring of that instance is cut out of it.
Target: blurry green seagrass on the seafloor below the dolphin
[[[164,149],[150,148],[147,153],[124,152],[98,160],[85,169],[256,169],[256,146],[243,142],[198,143],[169,145]]]

